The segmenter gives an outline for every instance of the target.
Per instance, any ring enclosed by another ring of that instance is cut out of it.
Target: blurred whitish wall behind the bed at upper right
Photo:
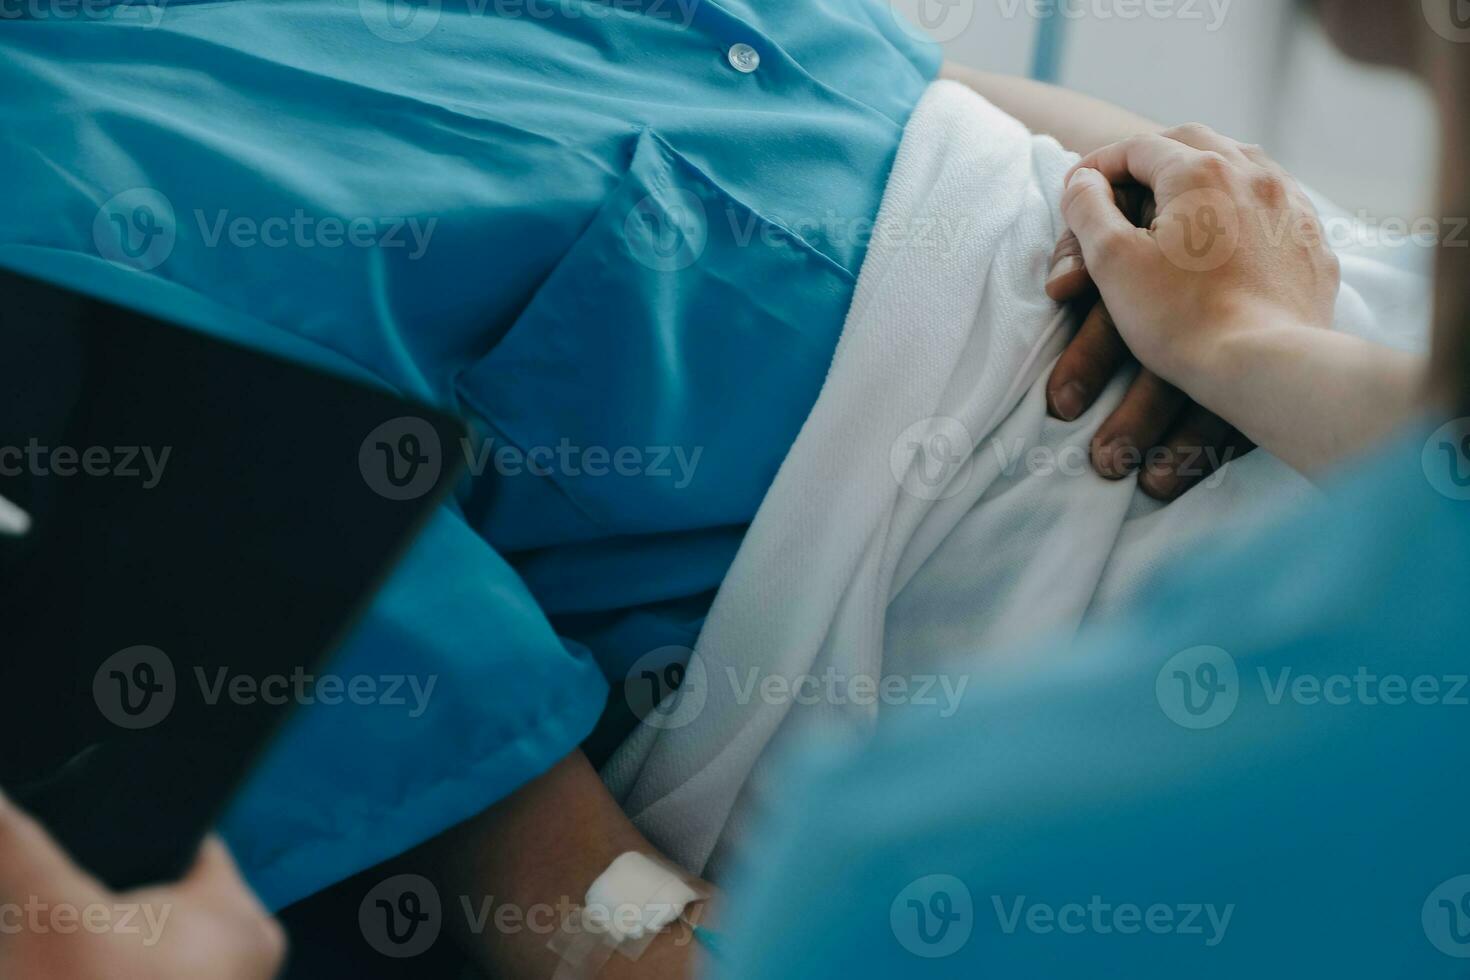
[[[894,6],[926,13],[920,24],[951,60],[1025,75],[1039,24],[1033,1]],[[1067,9],[1061,84],[1158,122],[1200,120],[1260,143],[1349,212],[1435,213],[1426,94],[1404,76],[1348,63],[1291,0],[1067,0]]]

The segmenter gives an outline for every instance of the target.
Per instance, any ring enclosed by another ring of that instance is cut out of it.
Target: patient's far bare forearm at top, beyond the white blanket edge
[[[992,75],[948,62],[939,76],[969,85],[1032,132],[1047,134],[1073,153],[1092,153],[1126,137],[1163,129],[1100,98],[1026,78]]]

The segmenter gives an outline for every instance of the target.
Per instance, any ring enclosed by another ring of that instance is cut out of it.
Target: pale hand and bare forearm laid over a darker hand
[[[1117,204],[1130,184],[1157,200],[1147,228]],[[1069,175],[1063,213],[1144,367],[1298,472],[1413,417],[1423,359],[1329,329],[1339,260],[1260,147],[1200,125],[1102,147]]]

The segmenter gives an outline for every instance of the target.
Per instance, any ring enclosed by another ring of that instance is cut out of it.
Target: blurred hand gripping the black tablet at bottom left
[[[269,980],[284,955],[219,840],[182,882],[118,895],[0,796],[0,977]]]

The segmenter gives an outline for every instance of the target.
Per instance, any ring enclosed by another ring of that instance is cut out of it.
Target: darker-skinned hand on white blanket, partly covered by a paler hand
[[[1114,190],[1119,209],[1135,226],[1154,222],[1152,194],[1136,184]],[[1047,381],[1051,416],[1072,422],[1092,407],[1114,375],[1136,361],[1107,303],[1098,297],[1082,242],[1072,231],[1053,253],[1047,295],[1072,303],[1085,314]],[[1252,448],[1250,439],[1219,416],[1154,372],[1139,369],[1123,401],[1094,433],[1091,458],[1108,479],[1123,479],[1136,470],[1145,494],[1170,501]]]

